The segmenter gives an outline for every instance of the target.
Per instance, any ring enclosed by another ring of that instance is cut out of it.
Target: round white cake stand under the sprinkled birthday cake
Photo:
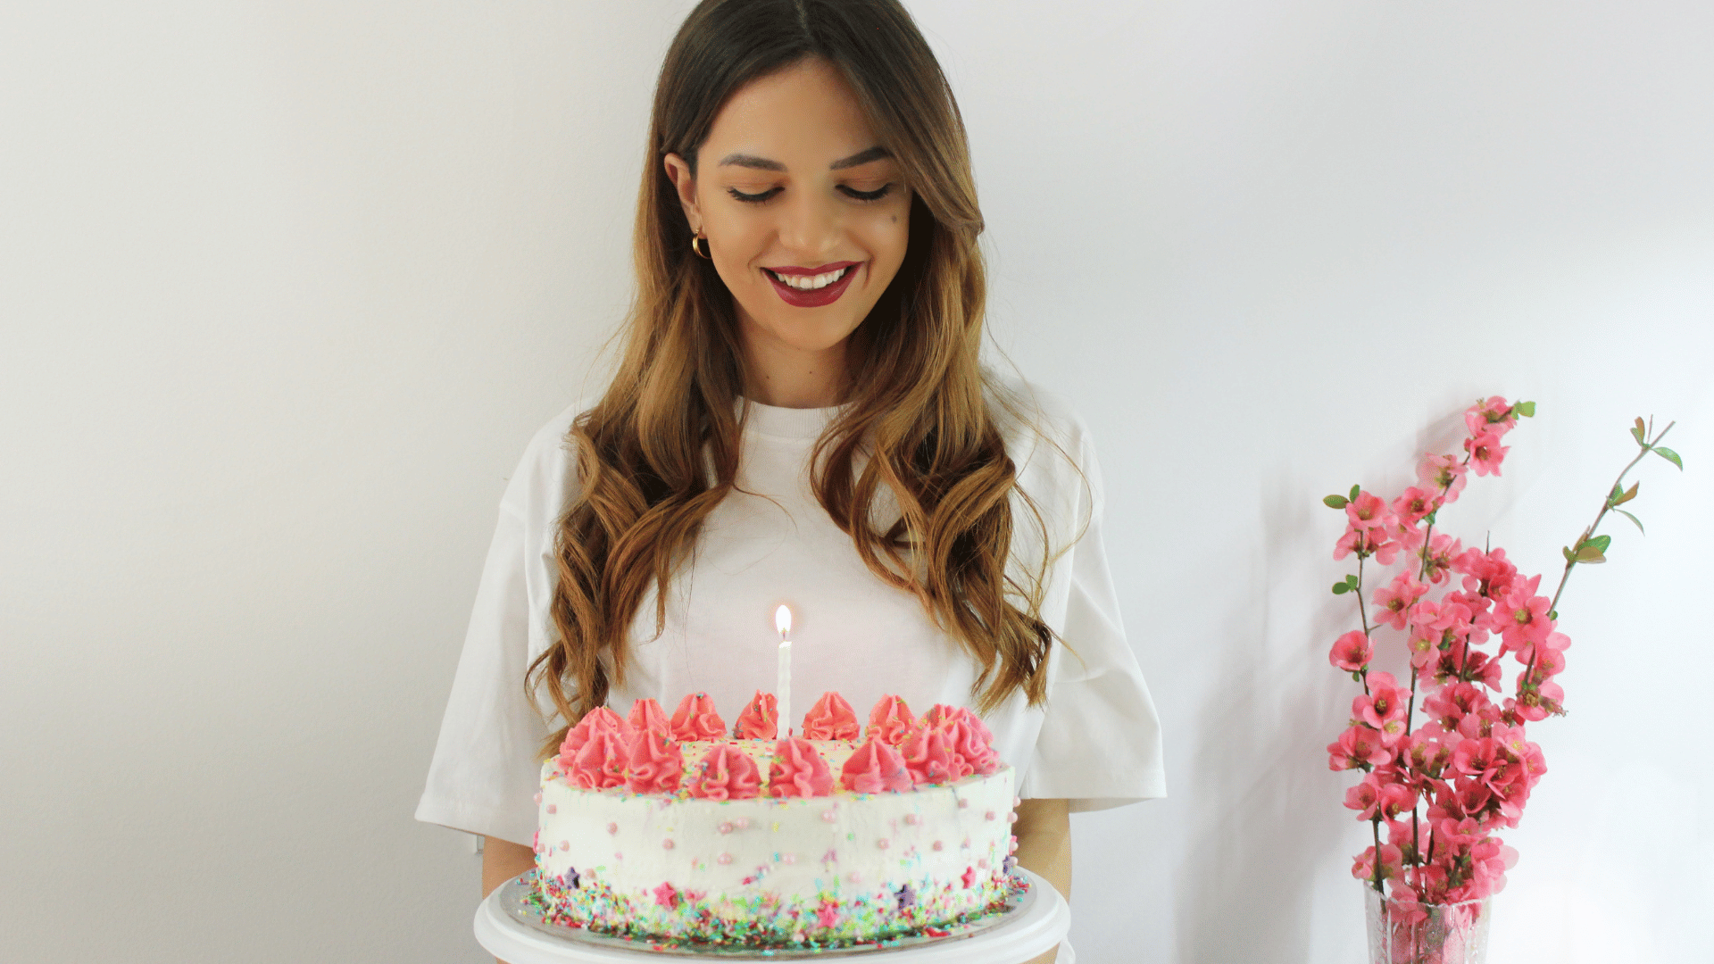
[[[932,943],[915,947],[891,947],[872,950],[848,950],[842,954],[816,954],[830,964],[866,964],[884,959],[886,964],[1022,964],[1037,954],[1064,940],[1071,930],[1071,907],[1064,897],[1054,890],[1042,877],[1020,868],[1030,880],[1030,892],[1006,918],[994,926],[979,930],[965,937],[950,937]],[[494,889],[476,907],[476,943],[507,964],[638,964],[653,961],[655,964],[692,962],[703,955],[663,954],[650,950],[646,943],[638,947],[596,947],[567,940],[531,928],[512,918],[500,904],[516,899],[521,887],[521,875]],[[788,952],[722,952],[706,955],[715,962],[742,961],[782,961],[797,957]],[[806,959],[811,955],[804,955]]]

